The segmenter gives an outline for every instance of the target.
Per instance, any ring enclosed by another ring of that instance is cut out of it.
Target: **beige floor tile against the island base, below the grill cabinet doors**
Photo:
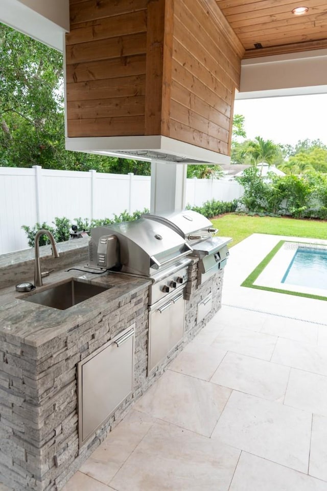
[[[168,370],[134,408],[210,436],[231,393],[230,389]]]

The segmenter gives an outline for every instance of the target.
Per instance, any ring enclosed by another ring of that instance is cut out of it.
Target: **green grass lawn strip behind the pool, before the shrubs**
[[[273,235],[327,239],[327,221],[296,220],[294,218],[248,217],[227,214],[211,220],[218,235],[232,237],[230,246],[241,242],[251,233],[271,233]]]

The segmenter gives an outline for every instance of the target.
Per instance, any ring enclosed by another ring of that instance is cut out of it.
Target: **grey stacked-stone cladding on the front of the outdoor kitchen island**
[[[148,365],[148,288],[112,302],[97,317],[39,348],[0,335],[0,476],[15,491],[58,491],[221,306],[223,271],[198,286],[198,261],[189,266],[184,337],[151,374]],[[197,324],[209,293],[211,312]],[[135,323],[134,390],[79,449],[77,364]]]

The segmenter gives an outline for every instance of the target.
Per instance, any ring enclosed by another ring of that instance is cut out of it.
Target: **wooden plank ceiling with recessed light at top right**
[[[216,2],[244,46],[244,58],[327,48],[326,0]],[[307,13],[292,13],[303,6],[309,8]]]

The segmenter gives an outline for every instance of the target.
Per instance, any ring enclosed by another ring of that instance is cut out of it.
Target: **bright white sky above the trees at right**
[[[251,140],[261,136],[294,146],[309,138],[327,145],[327,94],[236,100],[234,114],[245,116]]]

